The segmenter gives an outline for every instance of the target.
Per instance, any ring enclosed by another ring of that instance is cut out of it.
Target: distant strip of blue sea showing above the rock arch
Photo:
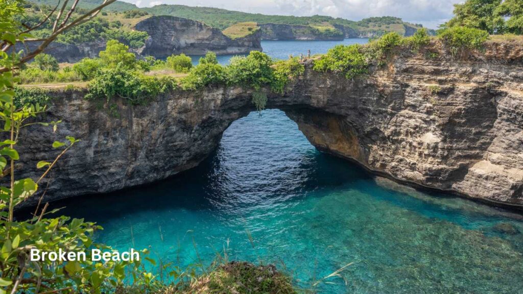
[[[367,38],[358,39],[345,39],[341,41],[316,41],[316,40],[287,40],[287,41],[273,41],[273,40],[262,40],[261,48],[263,52],[267,53],[272,58],[276,59],[288,59],[289,55],[293,56],[307,56],[308,50],[311,50],[311,54],[322,54],[326,53],[328,49],[333,48],[336,45],[344,44],[365,44],[369,41]],[[202,55],[191,55],[192,63],[198,64],[198,60]],[[228,64],[231,57],[234,55],[219,55],[218,62],[220,64]]]

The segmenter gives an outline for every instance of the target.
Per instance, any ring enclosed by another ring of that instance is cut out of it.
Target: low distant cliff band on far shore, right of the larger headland
[[[326,33],[311,26],[261,24],[259,27],[264,40],[343,40],[345,37],[340,30]]]

